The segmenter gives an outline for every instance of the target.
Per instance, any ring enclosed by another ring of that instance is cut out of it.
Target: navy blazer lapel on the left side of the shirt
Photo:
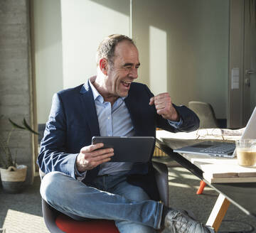
[[[90,127],[92,136],[100,136],[99,121],[95,108],[95,100],[93,99],[92,90],[89,81],[82,86],[80,90],[80,99],[85,107],[85,119]]]

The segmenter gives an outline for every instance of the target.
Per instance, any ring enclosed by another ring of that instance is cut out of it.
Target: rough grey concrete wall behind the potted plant
[[[32,120],[30,23],[28,1],[0,0],[0,132],[11,129],[8,118]],[[28,166],[27,183],[33,181],[33,143],[27,131],[15,130],[10,140],[17,162]],[[1,155],[3,155],[1,151]]]

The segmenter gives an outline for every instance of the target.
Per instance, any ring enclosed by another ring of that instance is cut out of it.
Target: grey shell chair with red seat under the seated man
[[[159,195],[164,205],[169,206],[168,168],[164,163],[153,162]],[[45,175],[41,170],[40,176]],[[51,233],[119,233],[114,221],[77,221],[63,215],[42,199],[43,219]]]

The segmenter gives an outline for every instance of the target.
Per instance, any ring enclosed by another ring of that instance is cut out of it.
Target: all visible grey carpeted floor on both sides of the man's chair
[[[206,186],[202,195],[196,195],[200,181],[196,176],[177,167],[168,158],[159,160],[169,165],[170,206],[191,210],[198,220],[206,223],[218,193]],[[5,233],[48,232],[43,222],[39,187],[39,177],[20,194],[6,194],[0,187],[0,232],[2,229],[6,230]],[[256,232],[256,218],[245,215],[230,204],[219,232]]]

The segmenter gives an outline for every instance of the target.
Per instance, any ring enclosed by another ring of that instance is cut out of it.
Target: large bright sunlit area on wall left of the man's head
[[[114,4],[114,3],[113,3]],[[63,86],[75,87],[96,75],[95,53],[100,41],[114,33],[129,36],[127,15],[89,0],[61,0],[63,32]]]

